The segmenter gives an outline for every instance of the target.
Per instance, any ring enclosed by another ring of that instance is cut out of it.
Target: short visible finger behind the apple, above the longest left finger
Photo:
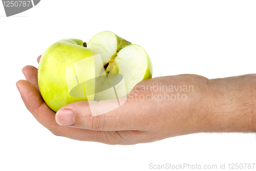
[[[32,83],[39,91],[38,80],[37,80],[37,68],[33,66],[26,66],[22,69],[22,72],[27,81]]]

